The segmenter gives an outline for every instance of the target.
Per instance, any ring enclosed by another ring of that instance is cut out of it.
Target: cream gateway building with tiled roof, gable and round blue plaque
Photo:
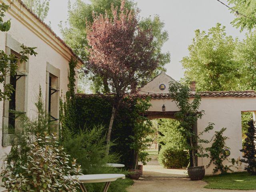
[[[159,76],[148,82],[140,89],[142,97],[151,96],[152,106],[146,112],[149,119],[154,118],[174,118],[174,113],[178,111],[175,102],[168,95],[168,84],[174,81],[170,76],[162,72]],[[193,87],[193,86],[192,86]],[[193,99],[192,91],[191,100]],[[256,92],[254,91],[221,91],[221,92],[199,92],[202,97],[199,110],[204,110],[205,114],[202,119],[199,119],[196,125],[196,131],[202,132],[209,122],[213,122],[214,130],[201,136],[202,139],[210,140],[214,135],[214,131],[219,131],[221,128],[227,128],[224,136],[226,145],[230,148],[230,156],[239,160],[242,158],[242,122],[241,112],[253,112],[255,118],[256,111]],[[165,106],[165,111],[162,106]],[[204,147],[211,144],[204,144]],[[198,158],[198,166],[204,165],[205,168],[210,160],[208,158]],[[229,164],[228,162],[225,162]],[[206,168],[206,174],[212,174],[214,165]],[[232,168],[236,171],[244,171],[244,164],[238,168]]]

